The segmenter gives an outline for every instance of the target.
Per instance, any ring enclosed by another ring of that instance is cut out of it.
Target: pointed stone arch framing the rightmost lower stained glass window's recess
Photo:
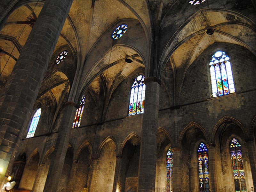
[[[215,125],[214,128],[212,130],[212,138],[211,138],[211,143],[215,143],[215,134],[218,130],[218,128],[221,126],[221,124],[224,123],[229,123],[229,124],[235,124],[237,127],[239,127],[243,133],[245,137],[248,137],[248,132],[247,130],[244,128],[244,125],[238,121],[236,118],[232,117],[232,116],[223,116]]]

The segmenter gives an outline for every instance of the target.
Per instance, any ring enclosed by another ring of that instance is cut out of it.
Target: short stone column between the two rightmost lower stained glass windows
[[[211,192],[218,191],[217,183],[217,170],[216,170],[216,158],[215,158],[215,144],[206,144],[208,148],[208,167],[209,167],[209,181]]]

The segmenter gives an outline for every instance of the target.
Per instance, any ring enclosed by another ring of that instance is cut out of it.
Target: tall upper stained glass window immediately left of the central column
[[[146,85],[144,84],[144,76],[139,75],[132,84],[129,116],[144,112],[144,100]]]

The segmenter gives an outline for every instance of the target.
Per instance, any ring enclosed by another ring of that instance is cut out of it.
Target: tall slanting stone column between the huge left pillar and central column
[[[64,115],[61,119],[58,138],[53,151],[53,158],[44,186],[44,192],[56,192],[61,177],[65,156],[68,149],[69,136],[71,134],[72,124],[77,103],[67,102],[64,106]]]

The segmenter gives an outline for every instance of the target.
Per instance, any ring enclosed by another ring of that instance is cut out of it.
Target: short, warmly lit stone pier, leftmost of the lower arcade
[[[36,173],[36,179],[33,186],[33,192],[43,192],[44,184],[47,176],[49,166],[40,163]]]

